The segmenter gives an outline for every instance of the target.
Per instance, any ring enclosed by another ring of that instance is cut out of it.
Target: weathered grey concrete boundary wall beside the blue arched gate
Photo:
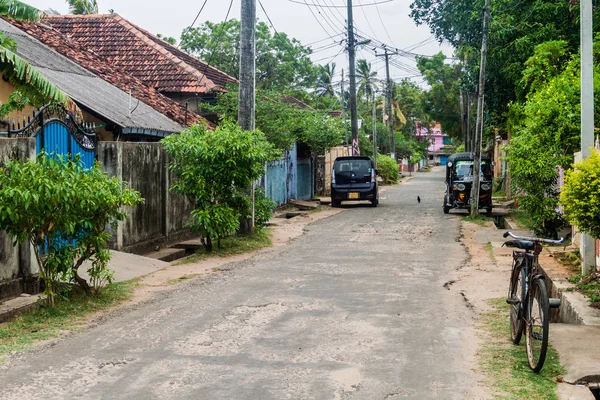
[[[35,159],[34,138],[0,139],[0,166],[10,159]],[[173,191],[174,176],[160,143],[100,142],[97,159],[108,176],[128,182],[141,192],[145,203],[130,208],[116,229],[109,229],[114,250],[144,254],[194,235],[186,222],[192,204]],[[39,272],[31,246],[13,246],[0,231],[0,300],[39,290]]]

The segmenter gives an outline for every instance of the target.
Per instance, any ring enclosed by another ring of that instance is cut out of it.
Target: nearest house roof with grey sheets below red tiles
[[[159,140],[195,122],[208,124],[42,23],[0,20],[0,33],[15,39],[17,54],[65,92],[86,122],[101,126],[101,140]]]

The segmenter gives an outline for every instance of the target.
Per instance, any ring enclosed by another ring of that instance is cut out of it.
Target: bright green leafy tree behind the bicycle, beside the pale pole
[[[600,57],[599,44],[595,56]],[[565,44],[548,42],[536,47],[522,79],[531,88],[524,103],[513,103],[507,147],[512,183],[521,206],[529,213],[537,234],[556,236],[564,224],[556,211],[559,199],[557,167],[571,168],[580,149],[580,69],[577,54],[564,54]],[[565,62],[565,58],[569,61]],[[560,71],[560,72],[559,72]],[[599,115],[600,67],[594,74],[596,115]]]

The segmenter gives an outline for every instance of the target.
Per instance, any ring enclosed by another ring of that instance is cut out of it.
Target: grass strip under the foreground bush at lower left
[[[90,314],[106,311],[131,298],[136,284],[137,280],[113,283],[98,296],[72,292],[68,298],[57,296],[54,308],[41,306],[19,315],[0,325],[0,355],[27,350],[39,341],[85,327]]]

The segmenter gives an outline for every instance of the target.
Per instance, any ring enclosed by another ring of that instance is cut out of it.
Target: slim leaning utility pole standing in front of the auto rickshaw
[[[485,68],[487,64],[488,33],[490,24],[491,0],[485,0],[483,11],[483,40],[481,44],[481,64],[479,66],[479,93],[477,98],[477,125],[475,128],[473,186],[471,187],[471,215],[479,214],[479,176],[481,174],[481,145],[483,142],[483,106],[485,99]]]

